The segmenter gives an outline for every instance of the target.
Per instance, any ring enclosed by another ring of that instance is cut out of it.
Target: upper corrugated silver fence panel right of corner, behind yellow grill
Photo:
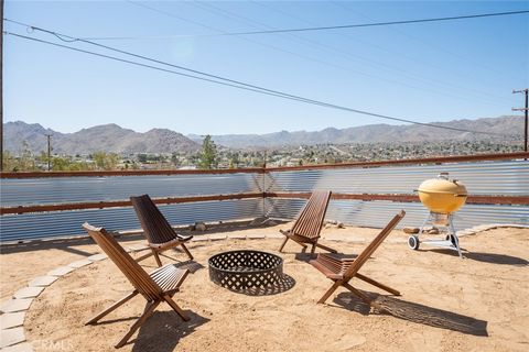
[[[529,162],[525,161],[272,172],[264,187],[270,193],[411,194],[441,172],[463,182],[471,195],[529,195]]]

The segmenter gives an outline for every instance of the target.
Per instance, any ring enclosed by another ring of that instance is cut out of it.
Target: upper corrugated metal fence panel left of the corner
[[[2,178],[2,207],[262,193],[262,174]]]

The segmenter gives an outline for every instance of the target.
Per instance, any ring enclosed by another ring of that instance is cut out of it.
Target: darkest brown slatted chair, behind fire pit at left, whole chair
[[[158,253],[175,246],[182,246],[190,260],[193,260],[193,255],[191,255],[184,244],[193,237],[176,233],[149,195],[130,197],[130,201],[134,207],[141,228],[143,229],[143,234],[149,242],[149,248],[156,260],[158,266],[162,266],[162,261]],[[142,261],[150,255],[151,254],[141,256],[138,261]]]

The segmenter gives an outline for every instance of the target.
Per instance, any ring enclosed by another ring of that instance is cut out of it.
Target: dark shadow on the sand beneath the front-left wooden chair
[[[170,352],[174,351],[180,340],[193,333],[197,327],[207,323],[209,319],[193,311],[185,311],[191,318],[183,321],[174,311],[156,310],[140,328],[138,337],[127,344],[132,344],[132,351]]]

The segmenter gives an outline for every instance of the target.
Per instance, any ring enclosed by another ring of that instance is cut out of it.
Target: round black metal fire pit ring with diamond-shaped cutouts
[[[281,284],[283,260],[260,251],[229,251],[212,256],[208,261],[209,278],[231,290],[246,290]]]

